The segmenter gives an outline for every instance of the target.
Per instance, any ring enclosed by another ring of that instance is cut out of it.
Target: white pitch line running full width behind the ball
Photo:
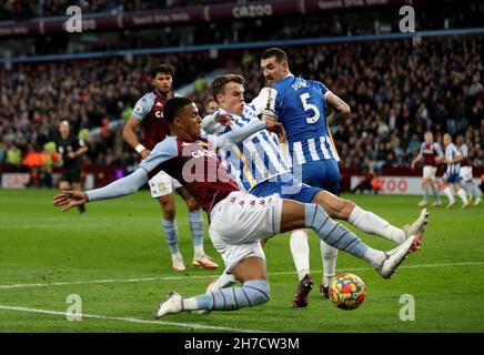
[[[484,262],[471,262],[471,263],[441,263],[441,264],[423,264],[423,265],[403,265],[399,268],[420,268],[420,267],[452,267],[452,266],[475,266],[483,265]],[[347,267],[339,268],[342,271],[372,271],[371,267]],[[312,271],[314,272],[314,271]],[[293,271],[286,272],[269,272],[269,275],[291,275],[295,274]],[[39,283],[39,284],[10,284],[0,285],[1,288],[23,288],[23,287],[46,287],[46,286],[65,286],[65,285],[87,285],[87,284],[111,284],[111,283],[130,283],[130,282],[149,282],[149,281],[184,281],[196,278],[209,278],[210,275],[191,275],[191,276],[159,276],[159,277],[140,277],[140,278],[107,278],[107,280],[91,280],[91,281],[71,281],[71,282],[52,282],[52,283]]]

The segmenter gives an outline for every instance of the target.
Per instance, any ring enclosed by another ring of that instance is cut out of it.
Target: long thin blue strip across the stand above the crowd
[[[142,55],[142,54],[177,54],[182,52],[203,52],[203,51],[230,51],[244,50],[254,48],[270,47],[294,47],[294,45],[314,45],[314,44],[332,44],[332,43],[351,43],[351,42],[369,42],[384,40],[401,40],[409,38],[433,38],[433,37],[456,37],[456,36],[478,36],[484,34],[484,27],[468,29],[451,29],[451,30],[434,30],[406,33],[385,33],[385,34],[365,34],[365,36],[339,36],[325,38],[304,38],[293,40],[272,40],[249,43],[214,43],[188,47],[165,47],[165,48],[148,48],[137,50],[118,50],[103,52],[87,52],[75,54],[49,54],[49,55],[32,55],[32,57],[14,57],[1,58],[0,63],[29,63],[29,62],[48,62],[59,60],[82,60],[91,58],[105,57],[124,57],[124,55]]]

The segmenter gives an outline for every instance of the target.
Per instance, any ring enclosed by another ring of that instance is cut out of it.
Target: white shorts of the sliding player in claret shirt
[[[280,233],[282,200],[232,192],[213,206],[209,234],[230,272],[249,256],[265,260],[260,240]]]

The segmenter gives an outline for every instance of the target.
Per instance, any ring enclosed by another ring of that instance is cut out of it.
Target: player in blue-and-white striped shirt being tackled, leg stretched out
[[[259,121],[258,115],[263,112],[266,95],[262,93],[252,103],[245,104],[243,83],[244,79],[234,74],[221,75],[213,80],[212,94],[220,109],[204,118],[202,128],[206,133],[225,134]],[[229,124],[218,123],[216,118],[225,115]],[[274,141],[268,130],[256,132],[228,149],[219,150],[218,154],[234,180],[246,192],[258,197],[279,194],[283,199],[302,203],[316,203],[330,216],[346,220],[363,232],[377,234],[397,244],[403,243],[411,234],[421,234],[427,222],[426,211],[423,210],[421,216],[411,226],[397,229],[351,201],[342,200],[320,187],[301,183],[290,172],[278,141]],[[230,285],[232,282],[234,282],[233,276],[224,273],[210,290]],[[307,293],[296,293],[293,305],[306,306]]]

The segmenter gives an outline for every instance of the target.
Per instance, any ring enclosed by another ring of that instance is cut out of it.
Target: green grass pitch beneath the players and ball
[[[0,332],[214,332],[219,326],[263,332],[483,332],[484,331],[484,207],[430,209],[431,223],[422,250],[412,254],[397,273],[382,280],[365,263],[339,256],[337,268],[360,275],[367,297],[355,311],[344,312],[319,291],[311,293],[307,308],[293,308],[296,286],[288,235],[274,237],[265,252],[271,301],[255,308],[214,312],[210,315],[177,314],[152,322],[155,305],[167,292],[196,295],[219,271],[189,266],[170,270],[171,260],[161,233],[161,211],[147,191],[137,195],[97,202],[88,213],[58,212],[51,204],[54,191],[0,191]],[[395,225],[413,221],[419,197],[350,196]],[[186,209],[179,199],[180,247],[185,263],[192,257]],[[392,243],[359,233],[372,246]],[[319,241],[312,235],[311,267],[315,283],[321,277]],[[205,251],[222,265],[205,230]],[[411,266],[411,267],[410,267]],[[158,278],[92,283],[99,280]],[[52,283],[68,283],[51,285]],[[72,284],[73,282],[85,282]],[[43,286],[2,287],[13,284]],[[65,316],[1,306],[65,312],[70,294],[82,297],[82,313],[132,317],[150,323]],[[402,322],[400,297],[415,298],[415,321]]]

